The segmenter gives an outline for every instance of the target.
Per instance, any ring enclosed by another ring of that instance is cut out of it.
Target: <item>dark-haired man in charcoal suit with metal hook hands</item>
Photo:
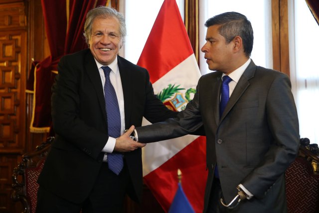
[[[246,16],[226,12],[205,26],[201,50],[215,72],[199,79],[193,100],[177,118],[137,127],[135,137],[161,141],[203,125],[208,168],[203,212],[285,213],[284,173],[299,149],[290,80],[250,59],[253,29]]]

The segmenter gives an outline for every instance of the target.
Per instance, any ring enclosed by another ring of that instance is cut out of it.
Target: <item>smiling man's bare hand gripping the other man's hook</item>
[[[131,126],[130,129],[116,139],[114,151],[117,152],[131,152],[138,148],[145,147],[146,144],[139,143],[130,138],[130,135],[133,133],[135,126]]]

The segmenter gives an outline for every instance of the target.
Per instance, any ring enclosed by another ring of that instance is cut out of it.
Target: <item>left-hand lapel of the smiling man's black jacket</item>
[[[103,86],[101,83],[101,76],[99,73],[99,69],[96,66],[96,62],[94,60],[94,57],[90,51],[88,51],[88,54],[85,56],[85,70],[87,75],[89,76],[95,91],[96,95],[99,100],[100,108],[102,110],[102,113],[104,115],[104,120],[107,120],[106,117],[106,111],[105,111],[105,100],[104,100],[104,93],[103,93]]]

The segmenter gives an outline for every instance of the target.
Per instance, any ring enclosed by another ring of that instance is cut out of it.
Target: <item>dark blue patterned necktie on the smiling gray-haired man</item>
[[[102,66],[105,75],[104,100],[108,119],[108,133],[113,138],[121,136],[121,115],[115,89],[110,80],[111,68]],[[123,169],[123,156],[120,153],[108,153],[109,169],[119,175]]]

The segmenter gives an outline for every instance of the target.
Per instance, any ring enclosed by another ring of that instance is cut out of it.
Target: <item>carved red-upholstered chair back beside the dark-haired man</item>
[[[299,154],[285,173],[288,213],[319,213],[319,148],[300,139]]]

